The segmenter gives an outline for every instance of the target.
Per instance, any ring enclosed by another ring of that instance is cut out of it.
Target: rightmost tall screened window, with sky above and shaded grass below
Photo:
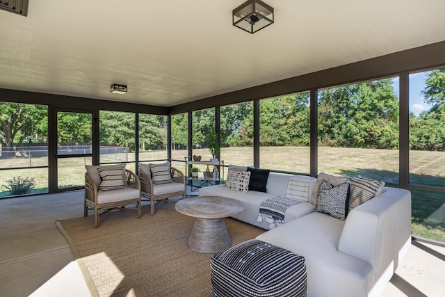
[[[412,234],[445,241],[445,193],[415,188],[445,188],[445,69],[409,79]]]

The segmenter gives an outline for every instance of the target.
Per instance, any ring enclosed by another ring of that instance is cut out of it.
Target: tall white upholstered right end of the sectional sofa
[[[396,269],[410,236],[410,191],[385,188],[384,193],[350,211],[338,250],[370,264],[380,277],[389,266]]]

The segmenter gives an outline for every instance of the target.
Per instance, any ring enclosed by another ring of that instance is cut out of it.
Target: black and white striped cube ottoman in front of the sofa
[[[307,296],[305,257],[252,239],[211,256],[211,296]]]

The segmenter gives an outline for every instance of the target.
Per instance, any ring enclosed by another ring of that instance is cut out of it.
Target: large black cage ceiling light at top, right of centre
[[[273,7],[260,0],[248,0],[233,11],[234,26],[255,33],[273,24]]]

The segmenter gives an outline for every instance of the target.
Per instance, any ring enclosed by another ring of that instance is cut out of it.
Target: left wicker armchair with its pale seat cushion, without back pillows
[[[140,218],[139,178],[131,170],[126,169],[125,181],[127,182],[126,188],[111,191],[98,191],[99,184],[88,175],[88,172],[85,173],[85,205],[83,216],[88,216],[88,211],[90,210],[94,211],[95,228],[99,227],[99,216],[118,207],[122,207],[123,209],[137,209],[138,218]],[[125,206],[129,204],[136,204],[136,207],[125,208]]]

